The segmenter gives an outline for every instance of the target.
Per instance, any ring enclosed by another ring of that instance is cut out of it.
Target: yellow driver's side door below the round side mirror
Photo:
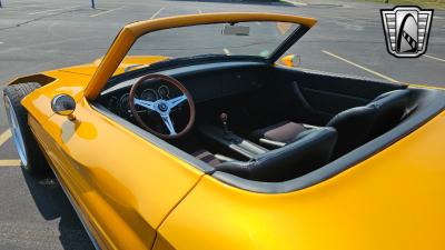
[[[150,249],[157,227],[204,172],[92,110],[85,99],[73,114],[75,121],[51,116],[44,130],[32,124],[61,182],[105,248]]]

